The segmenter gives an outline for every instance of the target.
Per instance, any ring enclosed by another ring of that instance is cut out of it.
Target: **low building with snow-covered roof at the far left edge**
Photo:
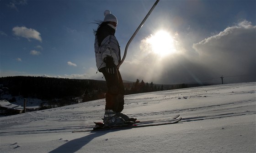
[[[23,112],[23,108],[19,105],[11,104],[7,100],[0,100],[1,115],[15,115]]]

